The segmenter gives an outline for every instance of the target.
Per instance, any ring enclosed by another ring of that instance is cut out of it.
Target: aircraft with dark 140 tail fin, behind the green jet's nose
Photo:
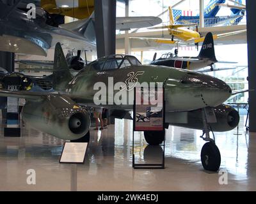
[[[176,51],[175,54],[177,54],[177,50],[175,51]],[[215,57],[214,41],[213,41],[212,33],[207,33],[204,39],[204,43],[202,44],[202,48],[197,57],[178,57],[177,55],[173,57],[172,53],[168,53],[168,54],[163,54],[159,59],[156,60],[156,55],[154,55],[154,59],[152,62],[150,62],[150,64],[170,66],[173,68],[189,69],[189,70],[198,71],[201,73],[208,72],[208,71],[221,71],[226,69],[235,69],[235,68],[213,69],[212,65],[215,64],[216,62],[236,63],[236,62],[217,61]],[[202,69],[202,68],[206,68],[207,66],[210,66],[211,69]]]

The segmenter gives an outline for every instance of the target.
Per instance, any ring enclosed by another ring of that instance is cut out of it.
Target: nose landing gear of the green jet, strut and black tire
[[[204,130],[203,135],[200,136],[203,140],[207,141],[201,150],[201,162],[205,170],[218,171],[221,163],[220,150],[215,144],[215,141],[210,138],[211,127],[207,123],[205,117],[205,110],[202,111]],[[203,137],[205,135],[205,137]]]

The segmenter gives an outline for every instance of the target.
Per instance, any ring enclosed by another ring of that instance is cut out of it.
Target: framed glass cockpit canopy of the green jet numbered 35
[[[101,57],[89,65],[97,71],[109,71],[128,66],[138,66],[140,64],[141,62],[132,55],[109,55],[107,57]]]

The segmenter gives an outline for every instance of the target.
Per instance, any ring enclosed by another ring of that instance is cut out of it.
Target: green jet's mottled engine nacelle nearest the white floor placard
[[[22,117],[32,128],[63,140],[77,140],[90,129],[90,116],[71,99],[49,95],[43,101],[27,101]]]

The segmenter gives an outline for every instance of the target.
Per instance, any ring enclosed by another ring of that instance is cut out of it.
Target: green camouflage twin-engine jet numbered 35
[[[236,110],[222,105],[232,94],[225,82],[184,69],[141,65],[131,55],[102,57],[72,78],[60,43],[55,47],[54,70],[60,70],[52,75],[57,92],[0,91],[0,96],[26,99],[22,115],[33,128],[63,140],[88,138],[90,117],[79,104],[110,108],[115,110],[114,116],[120,118],[133,108],[131,96],[134,85],[163,83],[166,128],[168,124],[174,124],[203,129],[206,133],[204,140],[207,141],[201,155],[203,166],[214,171],[220,167],[220,151],[209,136],[210,128],[205,119],[207,111],[202,110],[216,107],[212,109],[217,119],[211,124],[213,131],[228,131],[237,126],[239,115]],[[123,103],[120,103],[120,95],[115,95],[118,93],[127,94],[127,98],[121,101]],[[164,134],[164,131],[144,132],[145,140],[150,145],[163,142]]]

